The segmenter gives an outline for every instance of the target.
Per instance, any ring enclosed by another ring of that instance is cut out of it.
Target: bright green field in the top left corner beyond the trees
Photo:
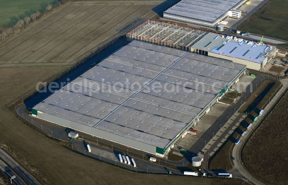
[[[33,11],[41,11],[55,0],[0,0],[0,26],[12,26]]]

